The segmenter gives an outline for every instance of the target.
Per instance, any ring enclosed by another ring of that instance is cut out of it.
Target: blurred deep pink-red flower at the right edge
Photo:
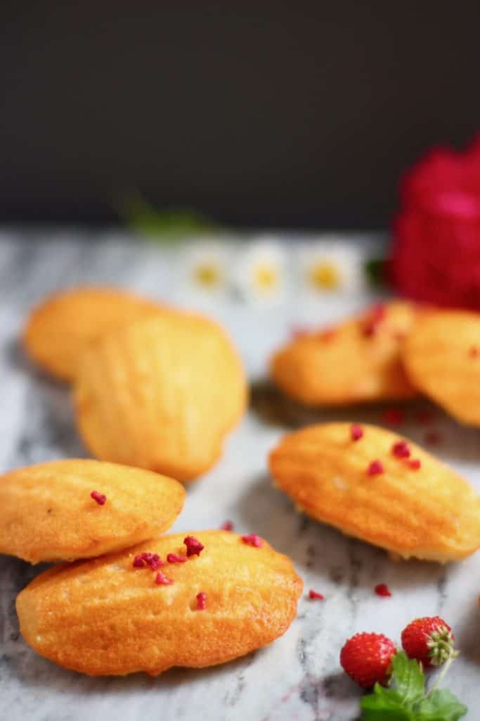
[[[433,149],[405,174],[391,279],[417,301],[480,309],[480,134]]]

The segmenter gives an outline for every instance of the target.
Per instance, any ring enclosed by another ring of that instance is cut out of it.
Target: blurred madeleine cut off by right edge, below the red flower
[[[412,384],[462,423],[480,425],[480,314],[421,314],[404,344]]]

